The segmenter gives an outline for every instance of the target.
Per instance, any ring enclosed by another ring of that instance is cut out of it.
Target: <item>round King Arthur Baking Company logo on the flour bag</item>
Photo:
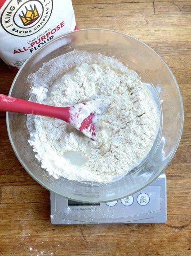
[[[44,27],[52,9],[53,0],[11,0],[0,16],[0,23],[9,34],[27,37]]]

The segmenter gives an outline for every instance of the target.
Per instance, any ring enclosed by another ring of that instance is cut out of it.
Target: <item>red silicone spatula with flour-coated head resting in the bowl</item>
[[[70,123],[92,139],[96,135],[98,117],[106,111],[109,102],[107,98],[99,98],[71,107],[54,107],[0,94],[1,111],[58,118]]]

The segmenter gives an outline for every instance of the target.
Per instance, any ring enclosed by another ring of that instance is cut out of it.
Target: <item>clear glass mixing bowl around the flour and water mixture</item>
[[[40,47],[19,70],[9,95],[29,100],[32,85],[28,79],[30,74],[42,68],[39,77],[42,85],[49,83],[50,78],[57,79],[66,71],[62,55],[75,51],[115,56],[121,63],[128,65],[129,69],[136,71],[142,82],[150,86],[161,116],[160,130],[151,152],[137,167],[115,182],[76,182],[63,177],[55,179],[40,167],[28,143],[30,135],[26,124],[27,115],[7,112],[9,139],[22,166],[49,191],[80,202],[97,203],[124,198],[153,182],[173,158],[183,126],[183,105],[178,84],[160,56],[143,42],[112,30],[83,29],[64,34]],[[51,60],[56,57],[61,61],[59,68],[51,64]]]

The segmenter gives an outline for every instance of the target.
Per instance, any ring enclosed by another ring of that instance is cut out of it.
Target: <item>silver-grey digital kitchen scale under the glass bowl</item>
[[[86,204],[50,193],[52,224],[164,223],[166,175],[161,174],[141,191],[100,204]]]

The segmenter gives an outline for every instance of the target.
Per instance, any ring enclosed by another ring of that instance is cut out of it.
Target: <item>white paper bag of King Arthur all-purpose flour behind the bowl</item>
[[[73,30],[71,0],[0,0],[0,58],[13,72],[45,43]]]

